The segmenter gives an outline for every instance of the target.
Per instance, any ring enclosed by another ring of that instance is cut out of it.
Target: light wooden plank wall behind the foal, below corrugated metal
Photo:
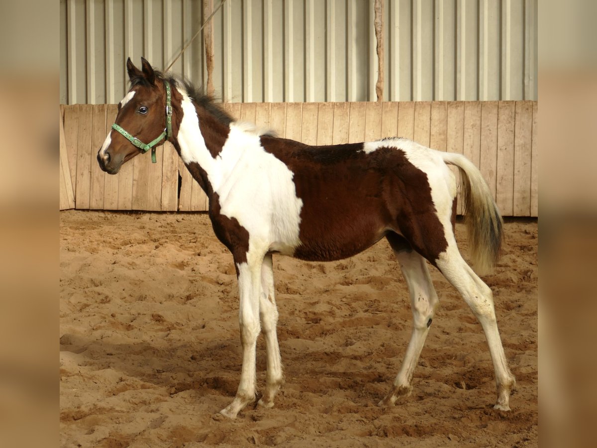
[[[439,151],[464,154],[481,170],[504,216],[537,216],[537,102],[222,106],[242,121],[255,122],[281,137],[310,145],[401,136]],[[60,106],[61,210],[207,210],[204,192],[170,143],[158,147],[156,164],[144,154],[123,165],[116,176],[100,170],[97,151],[115,116],[116,105]]]

